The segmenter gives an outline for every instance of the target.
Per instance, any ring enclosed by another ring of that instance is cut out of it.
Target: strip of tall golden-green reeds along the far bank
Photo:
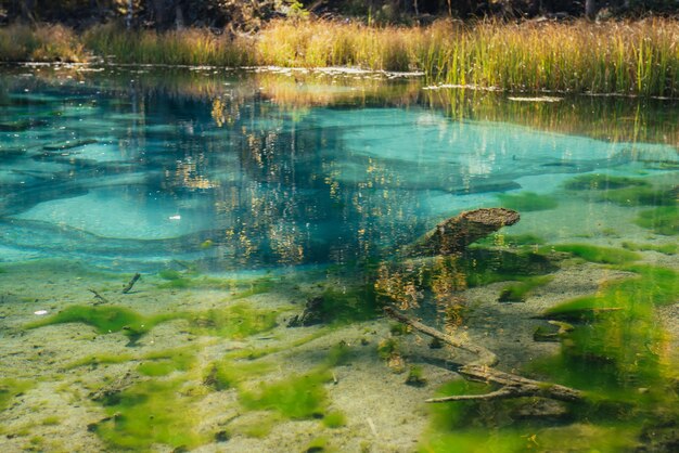
[[[323,21],[272,22],[255,37],[205,29],[157,34],[97,26],[0,29],[0,61],[297,67],[359,66],[422,70],[430,83],[512,92],[591,92],[679,96],[679,22],[652,18],[592,24],[367,27]]]

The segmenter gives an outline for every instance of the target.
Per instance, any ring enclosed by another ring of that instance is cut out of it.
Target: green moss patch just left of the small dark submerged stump
[[[258,310],[240,303],[225,310],[207,310],[183,316],[194,334],[245,338],[273,328],[278,314],[276,310]]]

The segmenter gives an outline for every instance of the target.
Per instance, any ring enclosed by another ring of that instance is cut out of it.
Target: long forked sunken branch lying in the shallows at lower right
[[[428,335],[437,340],[456,348],[473,352],[479,357],[478,360],[470,363],[459,363],[456,371],[467,380],[477,383],[499,385],[498,390],[483,394],[456,394],[443,398],[431,398],[427,403],[441,403],[448,401],[470,401],[470,400],[498,400],[518,397],[542,397],[558,401],[581,401],[585,394],[580,390],[569,387],[550,384],[540,380],[528,379],[511,373],[494,370],[491,365],[497,363],[497,357],[488,349],[474,345],[473,342],[454,338],[421,322],[399,313],[392,307],[386,307],[384,312],[403,324],[408,324],[415,331]]]

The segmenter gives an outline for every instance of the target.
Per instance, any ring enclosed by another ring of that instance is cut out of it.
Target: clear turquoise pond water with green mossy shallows
[[[0,79],[4,450],[679,442],[677,104],[81,69]],[[522,220],[460,257],[403,263],[439,221],[491,206]],[[313,299],[320,324],[287,327]],[[454,352],[384,305],[597,403],[425,405],[488,388],[454,379],[440,366]]]

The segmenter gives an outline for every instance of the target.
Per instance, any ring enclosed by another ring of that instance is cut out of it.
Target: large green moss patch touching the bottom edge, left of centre
[[[209,439],[196,430],[195,398],[184,380],[145,380],[105,401],[108,417],[94,426],[113,449],[149,451],[159,443],[191,449]]]

